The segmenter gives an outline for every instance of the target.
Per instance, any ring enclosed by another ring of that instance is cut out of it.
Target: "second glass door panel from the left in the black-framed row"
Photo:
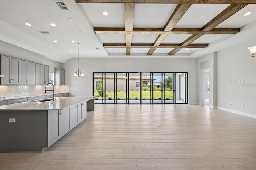
[[[105,83],[103,84],[105,103],[114,103],[115,95],[115,73],[105,73]]]

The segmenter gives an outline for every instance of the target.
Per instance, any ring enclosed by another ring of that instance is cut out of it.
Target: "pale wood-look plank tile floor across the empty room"
[[[1,170],[256,170],[256,119],[200,105],[95,105],[43,153]]]

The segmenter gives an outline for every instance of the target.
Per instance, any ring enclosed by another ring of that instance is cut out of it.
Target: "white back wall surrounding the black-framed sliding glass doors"
[[[197,59],[128,59],[128,58],[82,58],[80,69],[85,77],[74,77],[78,59],[65,63],[65,83],[70,95],[92,95],[93,72],[188,72],[188,102],[197,102]]]

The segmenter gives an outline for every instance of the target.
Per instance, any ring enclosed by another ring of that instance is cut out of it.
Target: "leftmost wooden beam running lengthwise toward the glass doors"
[[[134,17],[134,5],[135,4],[125,4],[125,31],[133,30],[133,17]],[[126,55],[130,55],[132,44],[132,34],[126,34]]]

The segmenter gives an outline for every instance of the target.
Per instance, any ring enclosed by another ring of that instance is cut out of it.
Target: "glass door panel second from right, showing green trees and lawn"
[[[164,73],[163,99],[164,103],[173,103],[173,73]]]

